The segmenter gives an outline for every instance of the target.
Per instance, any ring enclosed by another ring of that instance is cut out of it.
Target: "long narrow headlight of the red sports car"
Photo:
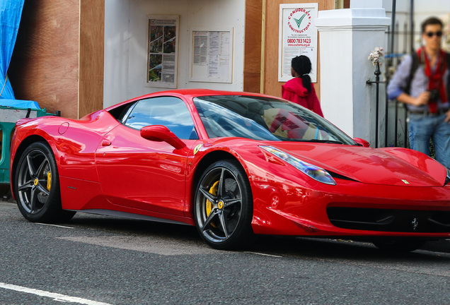
[[[322,182],[323,184],[336,185],[335,179],[333,179],[333,177],[331,177],[331,175],[321,167],[316,167],[316,165],[311,165],[308,162],[301,161],[296,157],[293,157],[292,155],[289,155],[286,152],[272,146],[261,145],[260,148],[279,157],[284,162],[289,163],[296,169],[299,169],[300,172],[308,175],[308,177],[311,177],[314,180]]]

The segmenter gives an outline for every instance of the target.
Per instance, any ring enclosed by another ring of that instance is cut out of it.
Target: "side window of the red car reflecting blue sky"
[[[181,139],[198,139],[188,107],[178,97],[153,97],[140,100],[129,111],[124,125],[140,129],[149,125],[164,125]]]

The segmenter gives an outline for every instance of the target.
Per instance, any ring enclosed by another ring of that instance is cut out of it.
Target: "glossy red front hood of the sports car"
[[[329,143],[277,143],[273,146],[329,172],[367,184],[443,186],[446,178],[442,165],[414,150]]]

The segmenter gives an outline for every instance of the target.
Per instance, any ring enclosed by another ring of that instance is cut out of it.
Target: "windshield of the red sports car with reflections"
[[[356,145],[333,124],[292,102],[270,97],[213,95],[195,97],[194,103],[209,138]]]

